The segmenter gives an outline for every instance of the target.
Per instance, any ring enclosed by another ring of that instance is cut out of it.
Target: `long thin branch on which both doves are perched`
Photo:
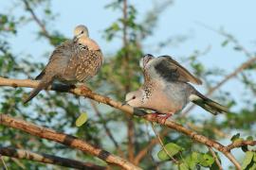
[[[0,86],[35,88],[35,87],[37,87],[37,85],[38,85],[38,81],[29,80],[29,79],[20,80],[20,79],[0,78]],[[74,93],[76,95],[88,97],[88,98],[91,98],[91,99],[96,100],[98,102],[101,102],[101,103],[104,103],[104,104],[109,105],[111,107],[114,107],[116,109],[122,110],[122,111],[124,111],[124,112],[126,112],[130,115],[141,116],[141,117],[143,117],[144,119],[146,119],[148,121],[156,122],[160,125],[173,128],[174,130],[179,131],[179,132],[189,136],[190,138],[192,138],[192,140],[194,140],[197,143],[205,144],[207,146],[213,147],[216,150],[222,152],[227,158],[229,158],[229,161],[231,161],[236,166],[236,168],[238,168],[238,169],[241,168],[241,165],[232,156],[232,154],[230,153],[230,150],[228,149],[227,146],[224,146],[223,144],[220,144],[216,141],[210,140],[206,136],[197,134],[196,132],[192,131],[191,129],[188,129],[186,127],[182,127],[181,125],[175,123],[174,121],[167,120],[165,122],[162,122],[161,118],[155,117],[152,114],[148,114],[144,110],[138,110],[138,109],[133,108],[133,107],[128,106],[128,105],[122,105],[122,103],[120,103],[118,101],[114,101],[111,98],[106,97],[106,96],[102,96],[98,93],[93,93],[91,90],[86,89],[84,87],[83,88],[70,89],[70,88],[67,88],[66,86],[63,86],[63,85],[53,84],[53,86],[50,87],[50,89],[58,91],[58,92],[69,92],[69,93]],[[246,143],[244,143],[244,144],[246,144]],[[249,143],[249,144],[251,144],[251,143]],[[233,145],[235,145],[235,144],[233,144]],[[253,145],[255,145],[255,143],[253,143]],[[233,148],[233,147],[230,147],[230,148]],[[96,153],[96,155],[97,155],[97,153]]]

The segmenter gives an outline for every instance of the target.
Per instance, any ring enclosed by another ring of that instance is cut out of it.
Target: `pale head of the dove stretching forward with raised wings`
[[[125,102],[123,104],[128,104],[132,107],[139,108],[139,107],[141,107],[142,95],[143,95],[143,93],[141,92],[141,90],[127,93],[125,95]]]

